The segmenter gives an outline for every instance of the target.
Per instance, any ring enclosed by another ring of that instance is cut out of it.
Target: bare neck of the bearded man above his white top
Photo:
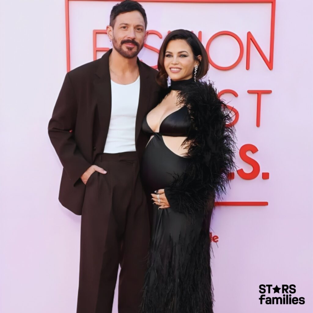
[[[109,56],[110,69],[116,74],[131,74],[138,71],[137,56],[131,59],[127,59],[119,54],[115,49]]]

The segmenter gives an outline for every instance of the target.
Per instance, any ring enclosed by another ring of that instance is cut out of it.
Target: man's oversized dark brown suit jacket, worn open
[[[59,97],[49,121],[48,133],[63,165],[59,201],[81,215],[85,184],[81,175],[103,153],[111,116],[109,55],[84,64],[65,75]],[[136,117],[136,151],[139,159],[149,140],[142,132],[144,116],[158,103],[160,87],[157,71],[137,58],[140,95]]]

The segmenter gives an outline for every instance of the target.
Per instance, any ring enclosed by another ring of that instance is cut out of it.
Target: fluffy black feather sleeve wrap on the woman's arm
[[[165,96],[170,90],[167,90]],[[178,102],[186,105],[191,127],[184,143],[190,159],[186,171],[164,188],[170,206],[194,217],[212,213],[214,200],[222,199],[235,171],[235,129],[230,110],[218,98],[212,82],[191,82],[178,91]]]

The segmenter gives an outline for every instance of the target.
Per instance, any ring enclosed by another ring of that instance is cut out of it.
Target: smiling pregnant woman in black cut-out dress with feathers
[[[141,312],[211,313],[209,226],[235,168],[232,120],[212,84],[199,81],[208,56],[193,33],[167,35],[158,69],[164,95],[142,125],[151,135],[141,171],[153,224]]]

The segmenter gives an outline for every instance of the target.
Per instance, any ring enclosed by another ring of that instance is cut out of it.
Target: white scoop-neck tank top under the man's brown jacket
[[[111,80],[112,107],[105,153],[136,151],[135,126],[139,102],[140,76],[128,85]]]

